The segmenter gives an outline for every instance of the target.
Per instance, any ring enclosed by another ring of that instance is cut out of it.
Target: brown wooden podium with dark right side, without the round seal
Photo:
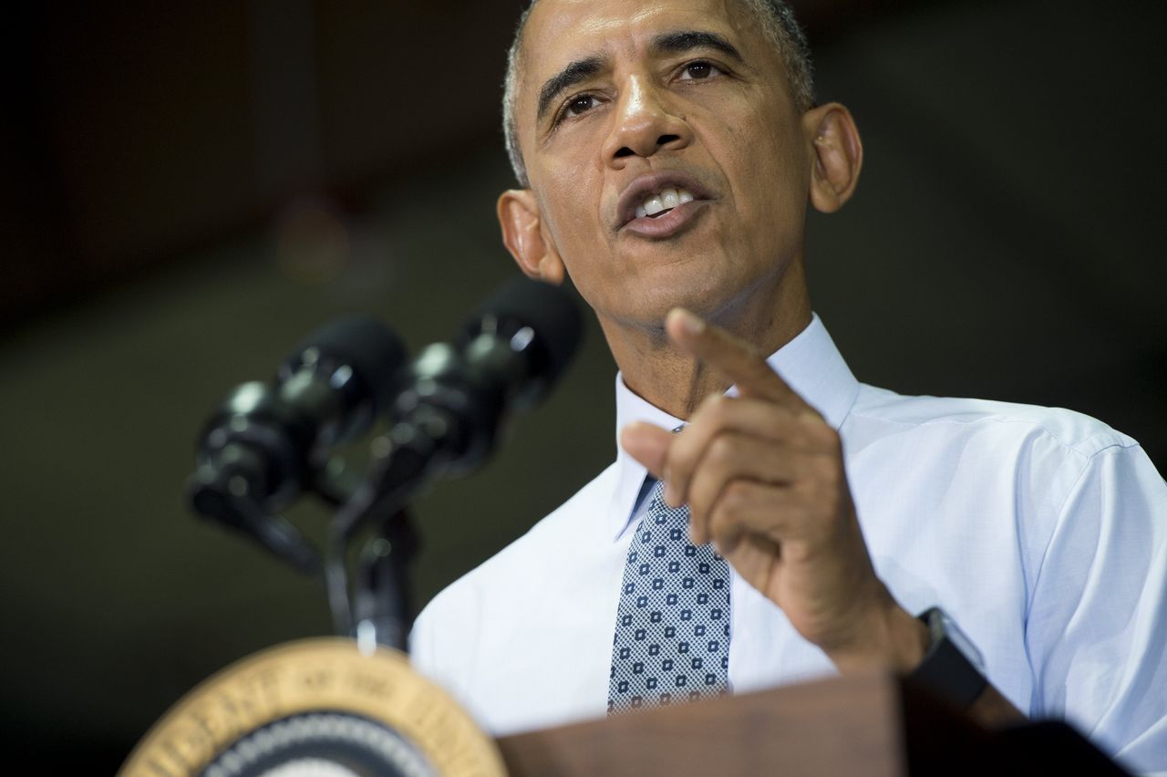
[[[1125,775],[1065,723],[986,729],[889,676],[830,679],[497,741],[536,775]]]

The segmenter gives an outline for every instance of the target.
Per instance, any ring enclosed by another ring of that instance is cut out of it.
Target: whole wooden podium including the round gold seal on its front
[[[404,654],[328,637],[277,645],[209,678],[154,724],[119,775],[260,775],[306,758],[364,764],[357,774],[449,777],[1124,774],[1064,723],[986,729],[882,674],[491,743]]]

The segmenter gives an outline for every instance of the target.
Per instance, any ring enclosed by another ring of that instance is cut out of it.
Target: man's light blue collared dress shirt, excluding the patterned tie
[[[900,604],[944,608],[1022,712],[1167,774],[1167,484],[1139,444],[1065,410],[860,384],[817,316],[769,364],[839,429],[875,572]],[[636,420],[680,422],[620,376],[616,398],[617,438]],[[418,618],[414,665],[487,730],[605,714],[644,478],[617,444],[612,466]],[[734,692],[834,673],[732,576]]]

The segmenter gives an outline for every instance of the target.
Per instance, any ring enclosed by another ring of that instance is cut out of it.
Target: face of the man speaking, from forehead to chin
[[[606,328],[774,303],[802,253],[813,154],[739,0],[540,0],[522,62],[541,232]]]

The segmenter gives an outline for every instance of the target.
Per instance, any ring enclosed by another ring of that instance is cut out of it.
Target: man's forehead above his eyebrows
[[[714,32],[749,46],[756,27],[741,0],[539,0],[523,30],[523,80],[596,54],[634,56],[665,30]]]

